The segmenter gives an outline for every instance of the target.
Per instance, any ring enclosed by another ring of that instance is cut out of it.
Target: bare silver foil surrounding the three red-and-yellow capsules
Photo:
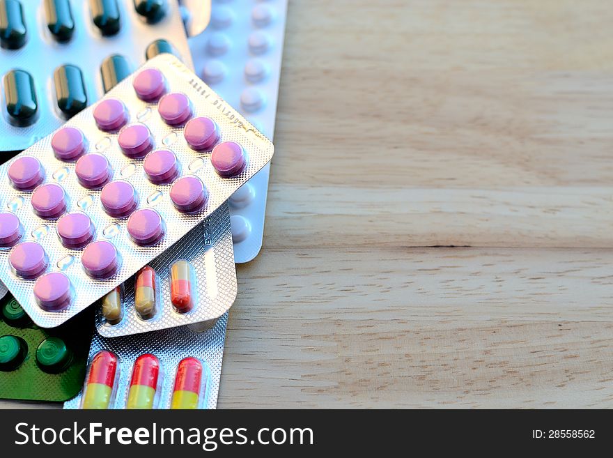
[[[139,356],[151,353],[160,360],[163,369],[162,383],[156,393],[159,396],[157,409],[171,407],[177,367],[184,358],[196,358],[206,365],[208,383],[203,393],[205,399],[202,407],[215,409],[222,375],[227,320],[226,313],[204,333],[196,333],[185,326],[112,339],[95,333],[89,350],[90,358],[106,350],[114,353],[119,361],[118,381],[109,406],[112,409],[126,408],[134,362]],[[81,406],[82,393],[64,403],[64,409],[79,409]]]

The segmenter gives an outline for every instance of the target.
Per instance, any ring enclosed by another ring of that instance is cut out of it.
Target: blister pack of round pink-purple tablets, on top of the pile
[[[171,54],[0,166],[0,279],[52,328],[262,169],[272,142]]]

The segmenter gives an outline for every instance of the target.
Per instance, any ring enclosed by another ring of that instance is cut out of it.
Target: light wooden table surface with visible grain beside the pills
[[[290,0],[219,408],[612,408],[612,23]]]

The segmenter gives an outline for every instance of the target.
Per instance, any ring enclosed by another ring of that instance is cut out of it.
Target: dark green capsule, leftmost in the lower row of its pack
[[[10,122],[30,125],[36,121],[38,100],[32,76],[24,70],[10,70],[4,75],[4,99]]]

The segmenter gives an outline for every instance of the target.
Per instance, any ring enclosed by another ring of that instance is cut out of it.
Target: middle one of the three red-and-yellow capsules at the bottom
[[[160,379],[160,360],[146,353],[134,361],[126,409],[154,409]]]

